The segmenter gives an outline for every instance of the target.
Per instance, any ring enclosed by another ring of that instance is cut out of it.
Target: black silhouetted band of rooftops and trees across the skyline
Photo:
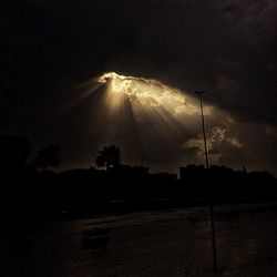
[[[277,182],[268,172],[234,171],[225,166],[187,165],[179,176],[150,173],[146,166],[121,162],[121,148],[105,146],[98,167],[54,173],[58,145],[43,146],[30,158],[25,137],[0,136],[1,213],[58,216],[124,212],[209,202],[277,201]]]

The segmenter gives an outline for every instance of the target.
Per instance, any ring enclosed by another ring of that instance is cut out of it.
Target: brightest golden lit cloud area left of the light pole
[[[198,114],[198,104],[185,92],[163,84],[154,79],[124,76],[115,72],[104,73],[98,80],[106,85],[107,99],[112,109],[120,109],[122,100],[127,100],[140,113],[143,110],[168,112],[179,119],[182,115]],[[207,106],[207,112],[211,107]]]

